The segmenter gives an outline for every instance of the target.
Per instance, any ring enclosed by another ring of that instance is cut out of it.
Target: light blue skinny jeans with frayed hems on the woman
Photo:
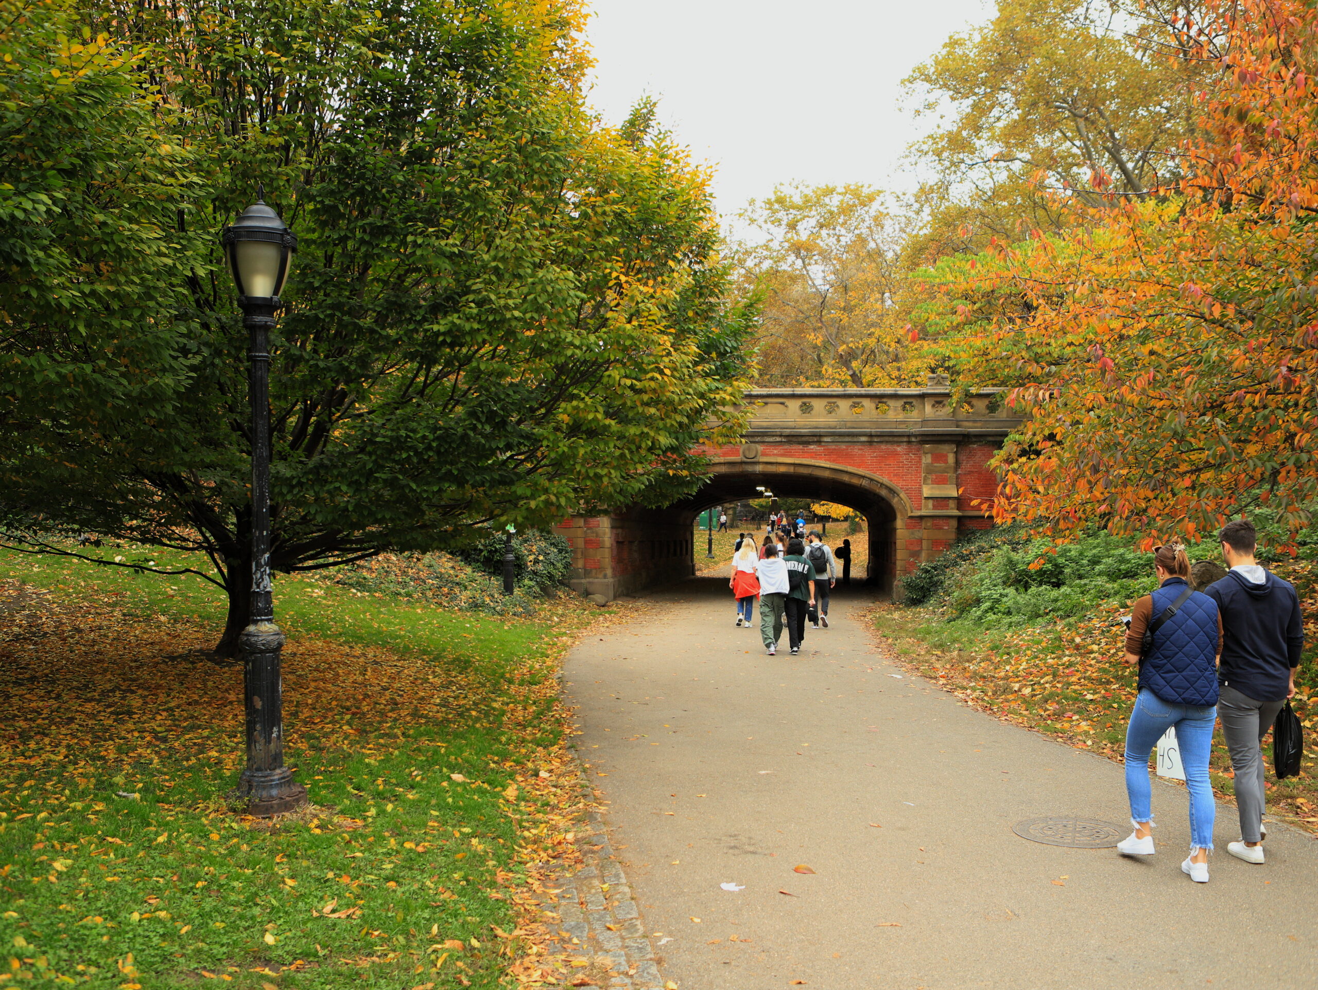
[[[1213,820],[1217,804],[1209,783],[1209,754],[1213,750],[1213,727],[1218,719],[1215,706],[1170,704],[1144,689],[1126,728],[1126,793],[1131,799],[1131,818],[1153,820],[1153,789],[1149,785],[1149,753],[1162,733],[1176,727],[1176,742],[1185,766],[1185,785],[1190,791],[1190,845],[1213,848]]]

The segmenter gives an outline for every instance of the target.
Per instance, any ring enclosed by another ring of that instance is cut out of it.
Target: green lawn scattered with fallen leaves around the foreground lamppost
[[[286,756],[312,807],[272,825],[225,802],[243,708],[241,670],[203,656],[219,588],[13,552],[0,582],[49,592],[0,612],[0,985],[500,985],[518,848],[551,839],[540,771],[561,769],[556,657],[581,611],[281,578]]]

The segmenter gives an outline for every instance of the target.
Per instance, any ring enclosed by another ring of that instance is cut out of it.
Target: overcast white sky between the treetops
[[[589,100],[618,124],[643,93],[717,166],[728,217],[793,179],[913,187],[900,82],[991,0],[593,0]]]

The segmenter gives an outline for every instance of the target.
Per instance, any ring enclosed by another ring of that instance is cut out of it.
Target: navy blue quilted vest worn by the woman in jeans
[[[1185,591],[1185,578],[1168,578],[1153,592],[1152,623]],[[1198,591],[1153,633],[1140,664],[1140,687],[1169,704],[1218,703],[1218,603]]]

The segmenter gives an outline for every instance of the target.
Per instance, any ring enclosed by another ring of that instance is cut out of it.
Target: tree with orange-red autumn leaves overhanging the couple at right
[[[1207,534],[1318,498],[1318,11],[1218,0],[1176,25],[1213,62],[1184,175],[1075,203],[1064,233],[944,259],[927,313],[961,387],[1028,413],[996,459],[1000,521]],[[1176,150],[1176,149],[1173,149]]]

